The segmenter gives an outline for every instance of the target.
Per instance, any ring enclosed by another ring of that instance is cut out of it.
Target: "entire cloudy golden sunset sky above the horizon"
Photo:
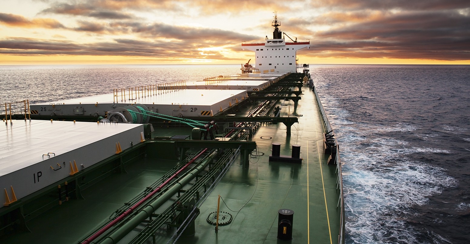
[[[299,63],[470,64],[469,0],[0,0],[0,65],[246,63],[275,11]]]

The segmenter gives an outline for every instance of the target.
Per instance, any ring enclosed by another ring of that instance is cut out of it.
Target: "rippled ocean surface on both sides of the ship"
[[[234,75],[240,65],[0,65],[0,102]],[[311,65],[343,163],[348,244],[470,240],[470,66]],[[303,111],[305,113],[306,111]]]

